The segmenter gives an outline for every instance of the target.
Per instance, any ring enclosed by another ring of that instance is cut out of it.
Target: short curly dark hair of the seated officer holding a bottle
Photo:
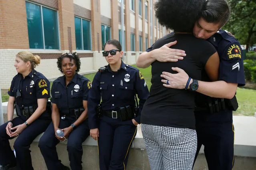
[[[75,61],[75,65],[77,66],[77,69],[76,69],[76,72],[78,73],[80,68],[81,68],[81,61],[80,61],[80,58],[79,56],[77,55],[77,52],[74,52],[74,53],[65,53],[65,54],[62,54],[60,57],[58,57],[58,60],[57,60],[57,66],[58,66],[58,70],[60,71],[60,73],[63,74],[63,71],[61,69],[61,65],[62,65],[62,60],[63,58],[69,58],[70,61],[72,59],[74,59]]]

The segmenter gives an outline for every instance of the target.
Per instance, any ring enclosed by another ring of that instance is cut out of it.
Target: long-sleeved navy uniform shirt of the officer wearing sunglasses
[[[97,106],[102,99],[102,110],[117,111],[119,107],[135,105],[134,95],[138,94],[139,113],[135,121],[140,123],[143,105],[149,95],[147,84],[139,69],[121,63],[118,71],[111,71],[107,65],[105,71],[98,71],[89,92],[88,113],[89,128],[98,128]]]

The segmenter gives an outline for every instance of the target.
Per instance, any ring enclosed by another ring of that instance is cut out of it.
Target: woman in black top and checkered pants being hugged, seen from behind
[[[174,34],[157,40],[153,49],[177,40],[172,48],[184,50],[186,57],[177,62],[154,61],[151,64],[152,86],[141,112],[141,131],[151,170],[191,170],[193,167],[197,148],[194,91],[198,82],[189,78],[185,89],[171,89],[163,86],[161,74],[163,71],[177,73],[172,67],[179,67],[189,77],[200,80],[205,69],[212,81],[218,79],[216,49],[210,42],[193,35],[203,5],[205,0],[158,0],[155,3],[159,23]],[[193,83],[188,87],[189,81]]]

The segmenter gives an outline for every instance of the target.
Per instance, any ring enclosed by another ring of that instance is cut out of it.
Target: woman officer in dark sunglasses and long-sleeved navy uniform
[[[96,73],[89,92],[90,135],[99,139],[100,169],[123,170],[149,91],[140,71],[121,61],[123,51],[117,40],[107,41],[104,49],[103,56],[109,65]],[[136,116],[133,112],[135,93],[139,97]],[[101,99],[102,112],[98,119],[97,106]]]

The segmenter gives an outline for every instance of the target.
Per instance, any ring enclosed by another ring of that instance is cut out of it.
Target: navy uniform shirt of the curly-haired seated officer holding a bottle
[[[73,79],[66,87],[65,75],[58,77],[52,83],[52,103],[56,104],[61,115],[69,115],[69,109],[83,107],[83,100],[88,100],[91,81],[75,73]]]

